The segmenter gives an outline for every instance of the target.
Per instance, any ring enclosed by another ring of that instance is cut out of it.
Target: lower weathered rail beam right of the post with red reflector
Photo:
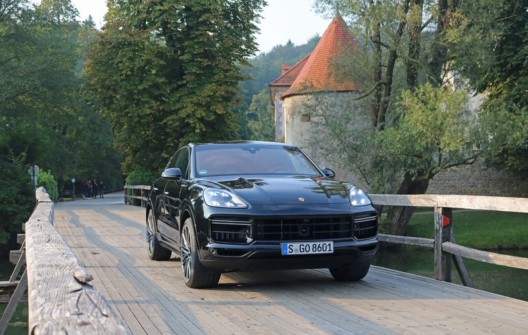
[[[528,270],[528,259],[524,257],[502,255],[488,251],[476,250],[451,242],[442,243],[442,248],[449,253],[457,254],[472,260]]]

